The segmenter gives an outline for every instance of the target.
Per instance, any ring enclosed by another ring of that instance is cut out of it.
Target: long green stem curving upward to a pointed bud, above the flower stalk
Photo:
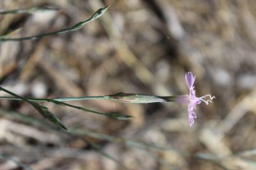
[[[107,11],[108,8],[109,8],[109,6],[106,6],[104,8],[100,8],[94,14],[92,14],[92,16],[88,20],[76,23],[75,25],[73,25],[73,26],[71,26],[69,28],[65,28],[63,30],[53,31],[53,32],[49,32],[49,33],[42,33],[42,34],[34,35],[34,36],[31,36],[31,37],[21,37],[21,38],[0,37],[0,42],[22,41],[22,40],[36,40],[38,38],[46,37],[48,35],[59,35],[61,33],[66,33],[66,32],[70,32],[70,31],[76,31],[76,30],[82,28],[83,26],[85,26],[90,21],[94,21],[97,18],[99,18],[102,14],[104,14]]]

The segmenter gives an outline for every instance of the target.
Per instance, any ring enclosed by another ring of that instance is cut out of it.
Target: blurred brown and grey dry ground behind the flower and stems
[[[59,8],[0,15],[0,35],[60,30],[108,5],[101,18],[80,30],[0,42],[1,86],[33,98],[119,92],[171,96],[188,93],[185,72],[192,71],[197,96],[212,94],[216,99],[197,106],[192,128],[186,105],[179,103],[70,102],[134,116],[129,121],[43,103],[68,128],[165,149],[142,149],[90,135],[72,137],[23,121],[17,115],[47,122],[27,103],[1,99],[0,169],[256,169],[255,1],[0,1],[1,11]]]

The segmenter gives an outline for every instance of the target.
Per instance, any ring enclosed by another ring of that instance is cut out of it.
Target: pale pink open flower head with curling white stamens
[[[186,84],[188,85],[188,89],[190,90],[190,93],[186,98],[186,101],[188,102],[188,122],[190,123],[190,127],[192,127],[195,123],[195,118],[197,118],[197,115],[195,113],[195,106],[200,104],[201,102],[204,102],[206,105],[209,103],[212,103],[212,99],[215,98],[215,96],[211,96],[210,94],[207,94],[205,96],[202,96],[198,98],[195,96],[195,76],[193,76],[192,72],[187,72],[185,75]],[[205,98],[209,97],[209,99],[205,100]]]

